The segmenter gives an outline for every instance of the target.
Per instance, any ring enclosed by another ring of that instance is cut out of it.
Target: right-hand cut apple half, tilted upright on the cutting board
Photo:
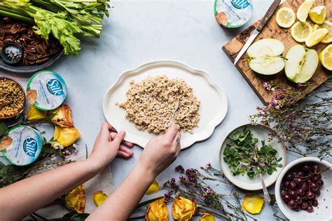
[[[286,53],[286,76],[294,83],[305,83],[314,75],[318,63],[316,50],[306,50],[302,45],[293,45]]]

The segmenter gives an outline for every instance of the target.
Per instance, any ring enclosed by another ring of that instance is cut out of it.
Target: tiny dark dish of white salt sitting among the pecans
[[[6,43],[1,50],[2,59],[7,64],[18,64],[22,61],[23,50],[15,43]]]

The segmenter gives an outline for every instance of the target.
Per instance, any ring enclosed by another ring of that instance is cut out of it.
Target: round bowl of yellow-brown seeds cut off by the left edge
[[[25,91],[20,83],[0,77],[0,119],[16,117],[25,108]]]

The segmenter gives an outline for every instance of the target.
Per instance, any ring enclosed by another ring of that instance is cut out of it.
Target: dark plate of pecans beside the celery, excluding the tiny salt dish
[[[0,50],[8,43],[22,49],[22,59],[11,64],[6,57],[0,59],[0,69],[15,73],[33,73],[48,68],[63,55],[59,41],[49,36],[48,41],[34,33],[33,24],[5,17],[0,22]]]

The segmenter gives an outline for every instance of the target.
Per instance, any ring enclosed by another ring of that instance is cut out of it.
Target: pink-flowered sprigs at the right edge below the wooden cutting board
[[[249,116],[251,123],[272,127],[291,152],[332,157],[332,78],[312,92],[273,83],[263,86],[276,94],[270,104],[258,107],[258,113]]]

